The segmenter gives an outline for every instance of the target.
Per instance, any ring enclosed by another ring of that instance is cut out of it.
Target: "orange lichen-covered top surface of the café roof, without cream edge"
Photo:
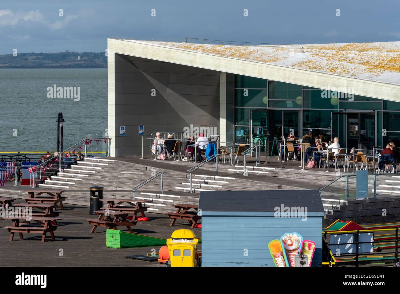
[[[400,85],[400,42],[233,46],[125,41]]]

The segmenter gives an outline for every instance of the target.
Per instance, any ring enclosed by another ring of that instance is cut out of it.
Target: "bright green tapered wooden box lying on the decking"
[[[150,237],[141,234],[107,229],[106,246],[110,248],[134,248],[149,246],[164,246],[167,239]]]

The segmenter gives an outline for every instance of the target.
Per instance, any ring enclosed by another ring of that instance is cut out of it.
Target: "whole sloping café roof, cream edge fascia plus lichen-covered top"
[[[108,52],[400,102],[400,42],[233,46],[108,39]]]

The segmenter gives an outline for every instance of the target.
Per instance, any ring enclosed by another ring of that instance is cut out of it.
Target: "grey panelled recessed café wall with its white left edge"
[[[191,124],[219,133],[220,72],[112,52],[108,66],[112,156],[142,155],[139,125],[144,125],[144,137],[183,132]],[[125,136],[119,135],[120,126],[126,127]],[[144,154],[150,154],[150,140],[144,145]]]

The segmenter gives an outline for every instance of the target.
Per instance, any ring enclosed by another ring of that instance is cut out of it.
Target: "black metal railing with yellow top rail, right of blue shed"
[[[323,236],[324,236],[324,239],[326,240],[326,235],[327,234],[355,234],[355,242],[348,242],[348,243],[338,243],[338,244],[334,244],[334,245],[348,245],[348,244],[352,244],[352,245],[356,245],[356,253],[344,253],[344,254],[340,254],[340,256],[352,256],[352,255],[354,255],[355,254],[355,258],[356,258],[356,260],[355,260],[355,266],[358,266],[359,264],[360,264],[360,260],[359,260],[359,257],[360,256],[364,256],[364,255],[368,255],[368,256],[374,256],[374,255],[377,255],[377,254],[374,254],[374,252],[363,252],[363,253],[360,253],[359,252],[359,244],[372,244],[372,247],[374,246],[374,244],[376,244],[376,243],[388,243],[388,240],[378,240],[378,241],[375,241],[375,240],[372,240],[372,241],[368,241],[368,242],[360,242],[359,240],[359,237],[360,237],[360,233],[366,233],[366,232],[382,232],[382,231],[395,231],[395,237],[394,237],[394,241],[391,241],[391,242],[394,242],[394,252],[387,252],[387,251],[385,251],[385,252],[383,252],[384,254],[391,254],[391,255],[394,255],[394,263],[396,264],[397,262],[398,262],[398,243],[399,243],[399,239],[398,239],[398,230],[399,230],[399,228],[383,228],[383,229],[371,229],[371,230],[350,230],[350,231],[323,231],[322,233],[323,233]],[[328,244],[328,243],[327,243]],[[329,251],[331,251],[331,249],[330,249],[330,244],[328,245],[328,247],[329,247]],[[382,254],[381,252],[379,252],[380,254]],[[331,254],[332,254],[332,252],[331,252]],[[333,255],[332,255],[332,257],[333,257]],[[333,257],[334,258],[334,257]],[[363,262],[362,260],[361,260],[361,262]],[[364,263],[366,263],[365,261],[364,261]],[[346,264],[346,262],[344,262],[344,264]]]

